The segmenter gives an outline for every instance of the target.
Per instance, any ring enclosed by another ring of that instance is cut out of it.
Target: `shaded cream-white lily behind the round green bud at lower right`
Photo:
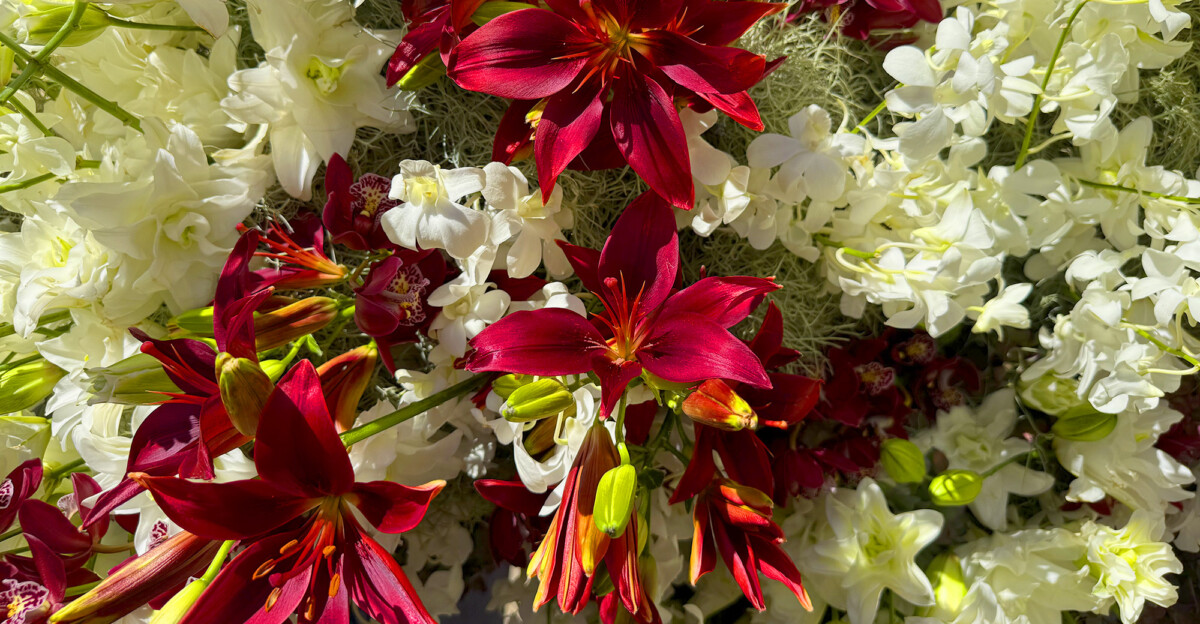
[[[959,406],[937,414],[936,425],[923,442],[946,454],[948,468],[983,474],[1033,450],[1020,438],[1009,438],[1016,425],[1016,394],[992,392],[978,408]],[[1008,526],[1008,497],[1034,496],[1054,485],[1054,476],[1007,463],[983,482],[970,504],[980,522],[995,530]]]

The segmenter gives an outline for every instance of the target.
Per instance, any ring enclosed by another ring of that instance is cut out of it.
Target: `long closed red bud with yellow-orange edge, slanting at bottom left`
[[[174,587],[199,576],[221,548],[220,541],[179,533],[133,559],[86,594],[50,616],[53,624],[108,624]]]

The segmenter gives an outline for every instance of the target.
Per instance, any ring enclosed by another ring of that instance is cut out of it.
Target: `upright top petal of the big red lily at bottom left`
[[[354,486],[354,467],[311,361],[288,370],[263,406],[254,466],[263,480],[296,496],[338,496]]]

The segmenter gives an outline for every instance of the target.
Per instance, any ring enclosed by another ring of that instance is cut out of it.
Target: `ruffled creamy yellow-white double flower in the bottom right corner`
[[[1087,542],[1087,565],[1096,581],[1092,593],[1104,600],[1097,612],[1116,602],[1121,620],[1132,624],[1147,600],[1164,607],[1178,600],[1165,575],[1182,572],[1183,564],[1169,544],[1159,541],[1164,533],[1160,516],[1139,510],[1120,530],[1087,522],[1079,533]]]

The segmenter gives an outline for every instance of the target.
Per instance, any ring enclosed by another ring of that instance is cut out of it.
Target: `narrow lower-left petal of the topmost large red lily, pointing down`
[[[563,90],[546,100],[534,140],[542,203],[550,200],[558,174],[595,138],[606,92],[600,80],[588,80],[574,91]]]

